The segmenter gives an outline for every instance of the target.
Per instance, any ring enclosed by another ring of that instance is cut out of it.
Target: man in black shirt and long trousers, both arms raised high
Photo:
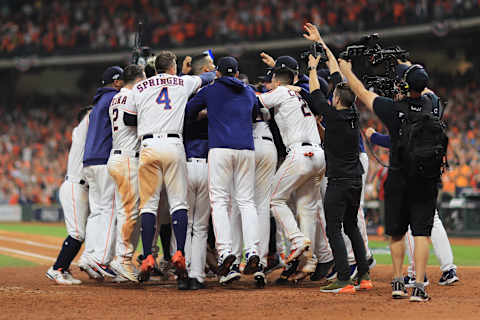
[[[373,286],[369,276],[365,244],[357,225],[362,194],[363,168],[359,159],[360,129],[359,116],[354,106],[355,94],[347,83],[341,82],[340,69],[336,58],[320,37],[316,27],[307,24],[305,29],[308,33],[308,35],[305,35],[307,39],[319,42],[324,47],[328,56],[326,64],[335,88],[332,106],[330,106],[324,92],[320,90],[317,76],[320,56],[315,58],[310,55],[308,70],[313,109],[323,116],[326,124],[324,148],[328,183],[324,207],[327,237],[337,269],[337,280],[322,287],[321,291],[350,293],[355,292],[355,288],[368,290]],[[355,286],[350,279],[350,267],[342,235],[342,226],[352,243],[358,265]]]

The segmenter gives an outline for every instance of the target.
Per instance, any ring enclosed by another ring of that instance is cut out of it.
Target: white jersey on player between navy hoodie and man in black
[[[287,148],[302,142],[320,144],[315,117],[299,93],[280,86],[258,98],[263,106],[274,109],[275,122]]]

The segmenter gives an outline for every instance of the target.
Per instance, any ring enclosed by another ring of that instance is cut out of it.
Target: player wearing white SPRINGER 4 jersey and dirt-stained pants
[[[177,251],[172,263],[178,273],[179,289],[188,286],[185,238],[188,224],[187,177],[182,130],[188,97],[215,74],[178,77],[176,56],[160,52],[155,59],[157,75],[136,84],[133,97],[141,137],[138,181],[143,256],[139,280],[148,279],[155,266],[152,244],[162,184],[165,183]]]

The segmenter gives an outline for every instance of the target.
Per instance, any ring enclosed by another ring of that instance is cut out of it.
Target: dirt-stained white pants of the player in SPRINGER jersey
[[[187,209],[187,167],[185,149],[179,138],[151,138],[142,141],[138,168],[140,212],[157,214],[165,184],[170,214]]]

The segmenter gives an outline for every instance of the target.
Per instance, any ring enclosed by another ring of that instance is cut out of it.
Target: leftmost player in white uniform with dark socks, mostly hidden
[[[68,153],[67,175],[59,191],[68,236],[63,241],[57,261],[46,273],[49,279],[58,284],[82,283],[70,273],[70,264],[85,240],[85,227],[89,213],[88,185],[82,174],[82,159],[91,109],[91,106],[86,107],[78,114],[79,124],[73,129],[72,146]]]

